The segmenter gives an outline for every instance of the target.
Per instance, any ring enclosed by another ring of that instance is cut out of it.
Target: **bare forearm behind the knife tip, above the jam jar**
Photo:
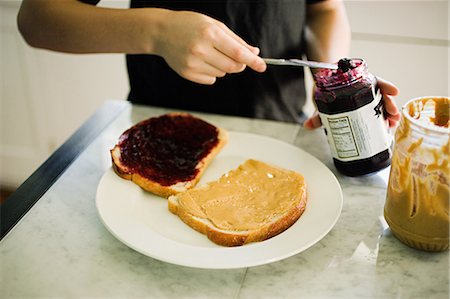
[[[305,38],[310,60],[337,62],[350,52],[350,26],[340,0],[308,6]]]

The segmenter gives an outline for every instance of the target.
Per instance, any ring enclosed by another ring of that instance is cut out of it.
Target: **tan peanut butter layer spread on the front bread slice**
[[[258,229],[304,204],[302,175],[247,160],[217,181],[177,195],[180,207],[224,230]]]

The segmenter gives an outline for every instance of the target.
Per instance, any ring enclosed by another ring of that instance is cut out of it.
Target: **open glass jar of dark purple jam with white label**
[[[366,62],[341,59],[337,70],[321,69],[314,81],[314,100],[336,168],[360,176],[389,166],[392,136],[377,80]]]

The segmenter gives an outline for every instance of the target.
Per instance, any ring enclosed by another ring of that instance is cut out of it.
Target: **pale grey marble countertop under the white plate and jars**
[[[111,167],[109,149],[118,136],[168,110],[121,105],[0,241],[1,298],[449,298],[449,252],[409,248],[384,221],[389,169],[343,176],[321,130],[282,122],[195,113],[230,131],[291,143],[324,161],[344,197],[340,218],[324,238],[281,261],[227,270],[178,266],[130,249],[102,224],[96,189]]]

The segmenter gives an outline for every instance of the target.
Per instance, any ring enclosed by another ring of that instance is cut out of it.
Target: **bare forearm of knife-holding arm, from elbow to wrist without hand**
[[[19,30],[34,47],[68,53],[154,52],[166,10],[110,9],[76,0],[23,0]]]

